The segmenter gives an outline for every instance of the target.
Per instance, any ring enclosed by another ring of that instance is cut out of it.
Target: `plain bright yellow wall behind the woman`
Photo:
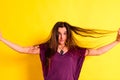
[[[4,38],[21,46],[45,41],[57,21],[117,31],[120,0],[0,1],[0,31]],[[115,38],[116,33],[79,41],[87,47],[100,47]],[[119,49],[120,45],[101,56],[86,57],[79,80],[120,80]],[[43,80],[39,56],[19,54],[0,42],[0,80]]]

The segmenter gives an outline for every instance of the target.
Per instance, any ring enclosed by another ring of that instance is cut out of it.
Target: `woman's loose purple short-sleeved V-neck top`
[[[47,46],[40,44],[40,59],[42,62],[45,80],[78,80],[83,61],[85,48],[76,47],[61,55],[56,52],[51,57],[49,70],[45,68],[45,51]]]

